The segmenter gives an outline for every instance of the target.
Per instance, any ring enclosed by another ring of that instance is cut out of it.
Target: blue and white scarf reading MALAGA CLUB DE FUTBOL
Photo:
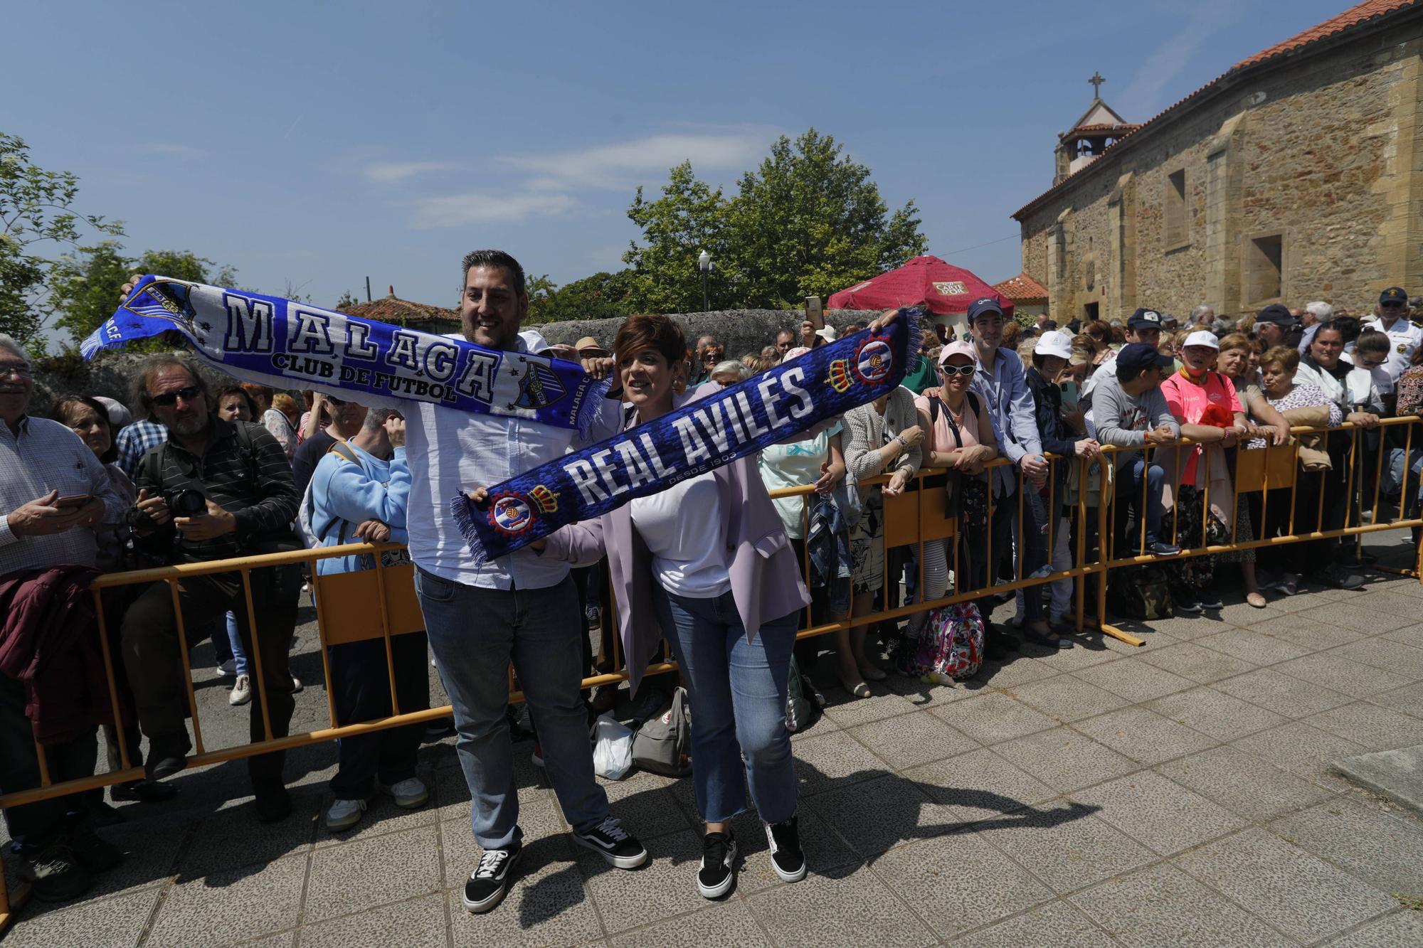
[[[171,330],[245,381],[356,393],[356,401],[370,404],[413,399],[586,434],[608,391],[606,381],[595,381],[572,362],[151,275],[80,349],[92,359],[104,349]]]

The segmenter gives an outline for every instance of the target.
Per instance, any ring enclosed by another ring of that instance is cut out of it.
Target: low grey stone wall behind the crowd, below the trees
[[[825,322],[837,330],[847,323],[874,319],[872,310],[835,309],[825,313]],[[776,342],[776,333],[783,329],[798,330],[804,319],[801,310],[774,309],[730,309],[717,313],[673,313],[687,335],[687,344],[694,346],[697,336],[712,333],[724,346],[727,356],[739,357],[747,352],[760,352],[763,346]],[[583,336],[592,336],[602,346],[612,349],[620,319],[592,319],[529,326],[536,329],[551,343],[575,343]],[[132,403],[134,379],[145,356],[108,353],[100,359],[77,366],[77,372],[40,372],[34,379],[33,414],[46,414],[50,403],[61,394],[107,396],[124,404]],[[201,360],[199,370],[208,384],[221,389],[235,383],[231,376],[218,372]]]

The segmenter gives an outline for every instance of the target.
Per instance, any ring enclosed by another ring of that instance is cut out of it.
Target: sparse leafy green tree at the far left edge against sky
[[[0,132],[0,332],[33,340],[54,312],[51,245],[75,245],[81,225],[118,236],[122,223],[73,211],[78,178],[30,161],[23,138]]]

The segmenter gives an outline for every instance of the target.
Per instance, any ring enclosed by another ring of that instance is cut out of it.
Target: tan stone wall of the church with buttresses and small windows
[[[1312,299],[1360,312],[1385,286],[1423,292],[1420,37],[1420,19],[1402,17],[1222,81],[1032,209],[1023,270],[1047,286],[1053,319],[1090,303],[1103,319],[1137,306],[1184,317],[1201,302],[1229,316]],[[1168,243],[1174,172],[1185,232]]]

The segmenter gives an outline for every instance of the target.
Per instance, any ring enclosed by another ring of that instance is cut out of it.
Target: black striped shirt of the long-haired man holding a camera
[[[246,428],[249,447],[238,437],[238,426]],[[155,470],[157,468],[157,470]],[[212,416],[212,434],[202,457],[169,437],[148,451],[134,478],[149,497],[192,488],[218,504],[236,520],[235,532],[212,539],[184,539],[172,524],[155,528],[137,510],[129,522],[137,530],[152,531],[144,539],[149,552],[159,552],[171,544],[174,562],[209,562],[255,552],[253,541],[263,537],[290,535],[292,518],[300,497],[292,484],[292,465],[286,453],[266,428],[248,421],[225,421]]]

